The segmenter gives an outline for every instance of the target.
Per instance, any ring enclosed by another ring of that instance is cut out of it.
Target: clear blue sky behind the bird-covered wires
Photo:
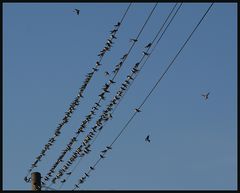
[[[184,3],[106,124],[62,187],[71,190],[99,158],[171,62],[210,3]],[[30,190],[27,170],[98,60],[128,3],[3,4],[3,189]],[[153,3],[131,6],[84,99],[34,171],[45,176],[69,142]],[[159,3],[110,89],[107,104],[152,41],[173,3]],[[73,9],[80,9],[76,15]],[[210,92],[209,99],[201,94]],[[237,4],[215,3],[192,39],[84,190],[237,188]],[[101,110],[99,111],[99,113]],[[99,114],[96,115],[98,117]],[[94,124],[94,122],[92,123]],[[88,127],[88,129],[90,129]],[[86,131],[89,131],[86,129]],[[84,135],[79,135],[81,142]],[[151,143],[145,142],[150,135]],[[70,154],[67,154],[67,157]],[[64,159],[66,160],[66,159]],[[59,184],[52,186],[58,189]]]

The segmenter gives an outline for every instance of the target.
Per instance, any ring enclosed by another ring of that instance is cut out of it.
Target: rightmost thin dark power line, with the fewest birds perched
[[[206,12],[204,13],[204,15],[202,16],[202,18],[199,20],[199,22],[197,23],[197,25],[195,26],[195,28],[193,29],[193,31],[191,32],[191,34],[188,36],[187,40],[184,42],[184,44],[181,46],[181,48],[179,49],[179,51],[177,52],[177,54],[175,55],[175,57],[173,58],[173,60],[170,62],[170,64],[168,65],[168,67],[166,68],[166,70],[164,71],[164,73],[160,76],[160,78],[158,79],[158,81],[155,83],[155,85],[153,86],[153,88],[150,90],[149,94],[145,97],[145,99],[143,100],[143,102],[140,104],[140,106],[138,107],[138,110],[140,110],[140,108],[145,104],[145,102],[147,101],[147,99],[150,97],[150,95],[152,94],[152,92],[156,89],[157,85],[160,83],[160,81],[162,80],[162,78],[164,77],[164,75],[167,73],[167,71],[170,69],[170,67],[172,66],[172,64],[174,63],[174,61],[176,60],[176,58],[178,57],[178,55],[182,52],[183,48],[186,46],[186,44],[188,43],[188,41],[190,40],[190,38],[192,37],[192,35],[194,34],[194,32],[197,30],[197,28],[199,27],[199,25],[201,24],[201,22],[203,21],[203,19],[205,18],[205,16],[207,15],[207,13],[209,12],[209,10],[211,9],[211,7],[213,6],[214,3],[211,3],[211,5],[208,7],[208,9],[206,10]],[[127,128],[127,126],[129,125],[129,123],[133,120],[133,118],[135,117],[135,115],[137,114],[137,112],[134,112],[133,115],[131,116],[131,118],[127,121],[127,123],[124,125],[123,129],[120,131],[120,133],[117,135],[117,137],[113,140],[113,142],[109,145],[109,147],[112,147],[112,145],[116,142],[116,140],[121,136],[121,134],[123,133],[123,131]],[[101,159],[103,159],[104,157],[101,156],[94,164],[94,167],[96,167],[96,165],[100,162]],[[89,170],[88,173],[90,173],[91,170]],[[73,190],[75,190],[76,188],[74,188]]]

